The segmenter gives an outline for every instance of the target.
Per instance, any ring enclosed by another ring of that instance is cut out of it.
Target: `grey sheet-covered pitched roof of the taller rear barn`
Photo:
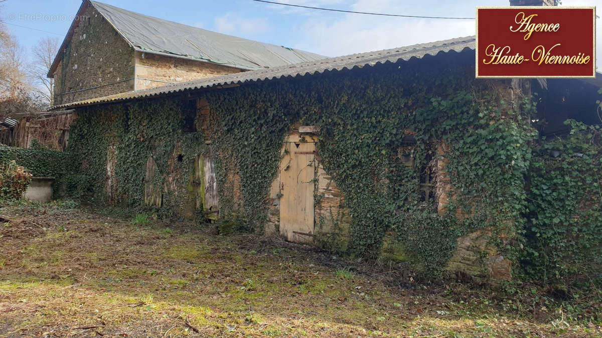
[[[146,16],[91,0],[82,3],[76,17],[81,17],[81,13],[88,5],[107,19],[132,48],[149,54],[186,58],[244,70],[286,66],[326,58],[299,49],[182,25],[182,23]],[[69,28],[67,37],[48,72],[49,76],[54,73],[57,60],[60,59],[58,56],[73,35],[76,23],[74,20]]]

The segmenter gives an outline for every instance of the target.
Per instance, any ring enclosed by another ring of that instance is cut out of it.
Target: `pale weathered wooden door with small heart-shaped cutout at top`
[[[287,241],[314,242],[315,144],[289,142],[280,171],[280,235]]]

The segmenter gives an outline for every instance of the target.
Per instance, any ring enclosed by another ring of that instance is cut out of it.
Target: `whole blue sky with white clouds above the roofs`
[[[107,4],[186,25],[253,40],[304,49],[327,56],[412,45],[474,35],[473,20],[408,19],[282,7],[251,0],[102,0]],[[344,10],[423,16],[473,17],[476,6],[503,6],[507,0],[281,0],[291,4]],[[29,49],[41,37],[61,40],[81,0],[7,0],[0,18]],[[563,0],[562,5],[602,5],[602,0]],[[602,10],[602,7],[598,8]],[[25,16],[29,16],[26,19]],[[49,20],[51,16],[57,20]],[[63,16],[66,17],[63,19]],[[37,18],[36,18],[37,17]],[[602,20],[597,54],[602,56]],[[19,26],[41,29],[21,28]],[[600,67],[598,67],[600,69]]]

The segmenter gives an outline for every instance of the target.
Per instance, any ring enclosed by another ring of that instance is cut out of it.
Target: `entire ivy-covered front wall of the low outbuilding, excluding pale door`
[[[328,229],[317,242],[376,257],[383,238],[393,237],[405,259],[432,274],[464,269],[464,256],[473,274],[500,266],[519,272],[527,265],[518,262],[543,250],[526,230],[530,213],[541,214],[532,210],[529,173],[545,161],[532,157],[540,153],[530,126],[535,109],[510,82],[474,79],[473,60],[470,52],[450,53],[193,93],[211,107],[203,117],[209,144],[200,128],[185,131],[187,97],[79,109],[70,145],[81,177],[72,190],[140,206],[153,204],[145,198],[151,189],[162,195],[158,215],[190,213],[194,161],[211,156],[220,219],[261,230],[275,219],[270,187],[291,126],[319,126],[318,176],[343,198],[330,203],[336,210],[316,212],[316,232]],[[427,176],[435,198],[422,193]],[[317,186],[320,209],[326,190]],[[543,263],[533,262],[528,271],[539,278]]]

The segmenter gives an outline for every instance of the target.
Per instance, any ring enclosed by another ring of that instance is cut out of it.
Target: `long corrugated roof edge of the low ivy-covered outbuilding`
[[[376,52],[352,54],[344,57],[327,58],[319,61],[293,64],[290,66],[273,67],[270,69],[254,70],[250,72],[235,73],[230,75],[216,76],[214,78],[198,79],[194,81],[181,82],[179,84],[166,85],[163,87],[129,91],[96,99],[83,100],[79,102],[66,103],[53,107],[67,108],[76,106],[95,105],[98,103],[114,102],[118,100],[140,99],[170,93],[178,93],[186,90],[202,88],[223,88],[232,85],[245,84],[247,82],[269,81],[282,78],[293,78],[296,76],[314,75],[329,71],[340,71],[353,69],[355,67],[374,66],[383,63],[396,63],[397,61],[408,61],[411,58],[423,58],[426,55],[436,55],[440,52],[461,52],[464,49],[475,48],[475,38],[461,37],[450,40],[421,43],[418,45],[385,49]]]

